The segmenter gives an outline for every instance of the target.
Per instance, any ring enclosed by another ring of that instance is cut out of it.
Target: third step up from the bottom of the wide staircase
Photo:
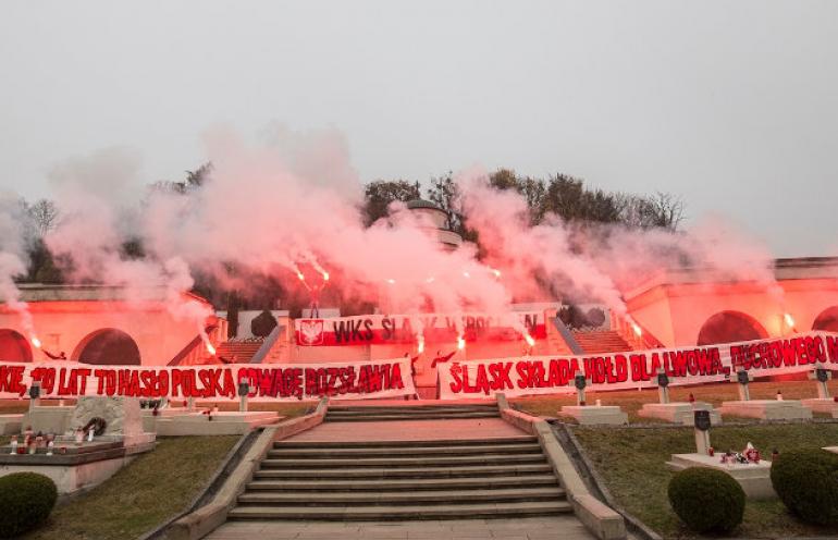
[[[528,488],[557,487],[550,475],[519,475],[478,478],[406,478],[374,480],[255,480],[248,491],[381,491],[381,490],[471,490],[526,486]]]

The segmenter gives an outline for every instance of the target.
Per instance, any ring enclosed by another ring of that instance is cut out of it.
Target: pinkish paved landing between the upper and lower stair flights
[[[501,418],[473,418],[463,420],[323,422],[312,429],[284,439],[284,441],[436,441],[508,439],[526,434]]]

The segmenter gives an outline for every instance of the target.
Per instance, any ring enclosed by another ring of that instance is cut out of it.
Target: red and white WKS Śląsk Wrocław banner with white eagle
[[[383,345],[416,343],[422,335],[429,343],[521,340],[522,332],[534,339],[546,336],[543,311],[503,315],[366,315],[333,319],[296,319],[297,344],[304,346]]]

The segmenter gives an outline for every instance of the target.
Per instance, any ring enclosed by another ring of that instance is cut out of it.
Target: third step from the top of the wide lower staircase
[[[514,463],[542,463],[543,454],[479,454],[467,456],[427,456],[427,457],[308,457],[262,459],[263,468],[337,468],[337,467],[422,467],[440,465],[502,465]]]

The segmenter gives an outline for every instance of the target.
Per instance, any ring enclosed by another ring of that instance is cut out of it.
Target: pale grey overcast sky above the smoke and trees
[[[838,255],[838,1],[4,1],[0,182],[201,134],[334,127],[362,181],[479,164],[683,197]]]

